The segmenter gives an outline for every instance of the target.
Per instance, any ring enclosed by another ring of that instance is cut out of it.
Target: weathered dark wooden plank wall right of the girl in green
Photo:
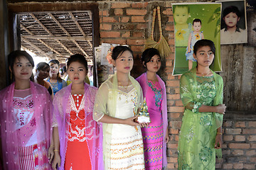
[[[228,111],[256,111],[256,47],[222,45],[224,103]]]

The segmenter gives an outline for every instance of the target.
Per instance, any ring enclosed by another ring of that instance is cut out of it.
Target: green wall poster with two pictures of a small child
[[[175,59],[173,75],[180,75],[196,67],[193,45],[201,39],[215,44],[215,58],[210,69],[221,71],[220,13],[221,3],[172,4],[174,15]]]

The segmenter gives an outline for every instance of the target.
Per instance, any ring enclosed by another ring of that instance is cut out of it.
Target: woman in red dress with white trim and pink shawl
[[[72,84],[53,98],[54,159],[53,169],[102,169],[100,126],[92,119],[97,89],[84,83],[87,61],[72,55],[67,62]]]

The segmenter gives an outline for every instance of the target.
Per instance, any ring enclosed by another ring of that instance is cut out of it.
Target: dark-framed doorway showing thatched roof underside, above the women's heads
[[[37,57],[62,63],[82,54],[92,67],[97,86],[94,47],[99,45],[97,3],[18,3],[9,4],[11,50],[28,50]]]

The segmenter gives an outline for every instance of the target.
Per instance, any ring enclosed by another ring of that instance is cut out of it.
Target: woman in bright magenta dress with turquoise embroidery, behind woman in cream
[[[151,123],[142,128],[146,169],[162,169],[167,165],[166,143],[169,141],[166,87],[156,74],[161,67],[159,51],[149,48],[142,53],[146,72],[136,80],[142,86]]]

